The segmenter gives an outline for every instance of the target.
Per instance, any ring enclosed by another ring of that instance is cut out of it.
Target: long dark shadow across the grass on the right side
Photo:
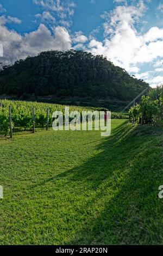
[[[72,198],[83,200],[78,207],[75,200],[71,202],[81,221],[76,227],[74,220],[74,235],[64,244],[163,242],[162,202],[158,199],[158,187],[163,184],[159,142],[160,137],[143,133],[142,127],[123,123],[102,141],[95,157],[37,184],[52,182],[55,186],[62,180],[69,187],[65,195],[70,193]]]

